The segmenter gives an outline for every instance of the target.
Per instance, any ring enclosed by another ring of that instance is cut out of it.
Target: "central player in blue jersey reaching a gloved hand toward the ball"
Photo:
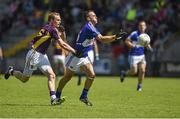
[[[95,72],[92,65],[92,58],[94,58],[94,56],[92,55],[93,42],[94,40],[99,40],[103,43],[110,43],[115,41],[116,39],[120,39],[126,34],[125,32],[120,32],[116,35],[102,36],[100,32],[95,28],[95,25],[98,21],[96,14],[92,10],[87,11],[86,20],[87,23],[80,30],[75,44],[75,49],[77,50],[77,52],[79,52],[79,54],[82,54],[82,57],[76,57],[73,54],[69,54],[66,58],[66,72],[63,78],[60,80],[56,92],[56,97],[59,98],[60,103],[61,93],[64,86],[69,80],[71,80],[74,72],[78,68],[81,68],[81,70],[87,75],[87,80],[85,81],[84,89],[80,96],[80,101],[88,106],[92,106],[92,103],[88,100],[87,95],[95,78]]]

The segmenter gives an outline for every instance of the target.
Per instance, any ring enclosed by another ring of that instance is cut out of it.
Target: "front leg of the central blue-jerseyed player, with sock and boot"
[[[85,81],[84,89],[80,96],[80,101],[82,101],[83,103],[85,103],[88,106],[92,106],[92,103],[88,100],[87,95],[88,95],[88,91],[89,91],[90,87],[92,86],[94,78],[95,78],[95,72],[93,69],[93,65],[90,63],[86,64],[86,65],[82,66],[82,70],[86,73],[87,79]]]

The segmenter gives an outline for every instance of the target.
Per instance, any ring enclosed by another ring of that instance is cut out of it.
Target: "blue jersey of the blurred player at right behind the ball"
[[[144,47],[141,45],[137,45],[138,37],[140,34],[141,33],[139,31],[134,31],[128,36],[128,38],[131,39],[131,43],[136,45],[136,47],[130,49],[129,55],[132,56],[144,55]]]

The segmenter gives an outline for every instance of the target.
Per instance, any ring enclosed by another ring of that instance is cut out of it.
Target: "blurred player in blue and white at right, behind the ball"
[[[130,69],[128,71],[121,72],[121,82],[124,81],[126,75],[135,75],[137,72],[138,75],[138,84],[137,91],[142,90],[142,81],[144,80],[145,71],[146,71],[146,59],[144,54],[144,49],[147,47],[152,50],[150,44],[147,44],[145,47],[138,44],[138,37],[140,34],[145,33],[146,30],[146,22],[140,21],[138,23],[138,30],[133,31],[125,40],[125,44],[130,48],[129,51],[129,64]]]

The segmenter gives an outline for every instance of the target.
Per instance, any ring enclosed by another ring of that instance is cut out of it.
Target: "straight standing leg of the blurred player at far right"
[[[145,77],[146,64],[139,63],[138,68],[139,68],[139,75],[138,75],[137,91],[141,91],[142,90],[142,82]]]

